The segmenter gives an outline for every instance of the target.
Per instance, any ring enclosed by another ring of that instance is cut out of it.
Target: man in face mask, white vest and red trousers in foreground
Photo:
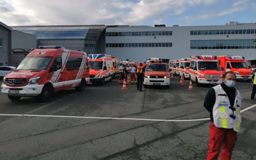
[[[241,124],[240,92],[234,87],[236,75],[228,71],[222,75],[222,84],[212,87],[204,100],[204,108],[210,112],[210,139],[207,160],[231,159],[236,133]]]

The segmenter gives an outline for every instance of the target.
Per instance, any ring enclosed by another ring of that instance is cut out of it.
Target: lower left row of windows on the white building
[[[172,43],[107,43],[106,48],[123,47],[172,47]]]

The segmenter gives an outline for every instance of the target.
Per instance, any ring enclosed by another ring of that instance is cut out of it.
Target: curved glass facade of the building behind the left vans
[[[40,45],[61,45],[66,49],[80,50],[89,53],[105,53],[100,51],[100,36],[104,36],[104,25],[77,25],[77,26],[16,26],[12,29],[35,35],[37,38],[37,47]],[[101,34],[103,33],[103,35]],[[105,47],[104,47],[105,48]]]

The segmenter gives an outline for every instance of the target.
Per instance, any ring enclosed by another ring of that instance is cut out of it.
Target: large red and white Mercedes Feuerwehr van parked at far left
[[[12,101],[38,96],[45,102],[55,91],[76,88],[84,91],[89,82],[85,52],[62,46],[40,46],[31,51],[20,65],[3,79],[2,93]]]

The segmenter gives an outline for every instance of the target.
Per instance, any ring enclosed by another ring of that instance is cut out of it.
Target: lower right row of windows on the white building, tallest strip
[[[254,39],[191,40],[190,49],[256,49]]]

